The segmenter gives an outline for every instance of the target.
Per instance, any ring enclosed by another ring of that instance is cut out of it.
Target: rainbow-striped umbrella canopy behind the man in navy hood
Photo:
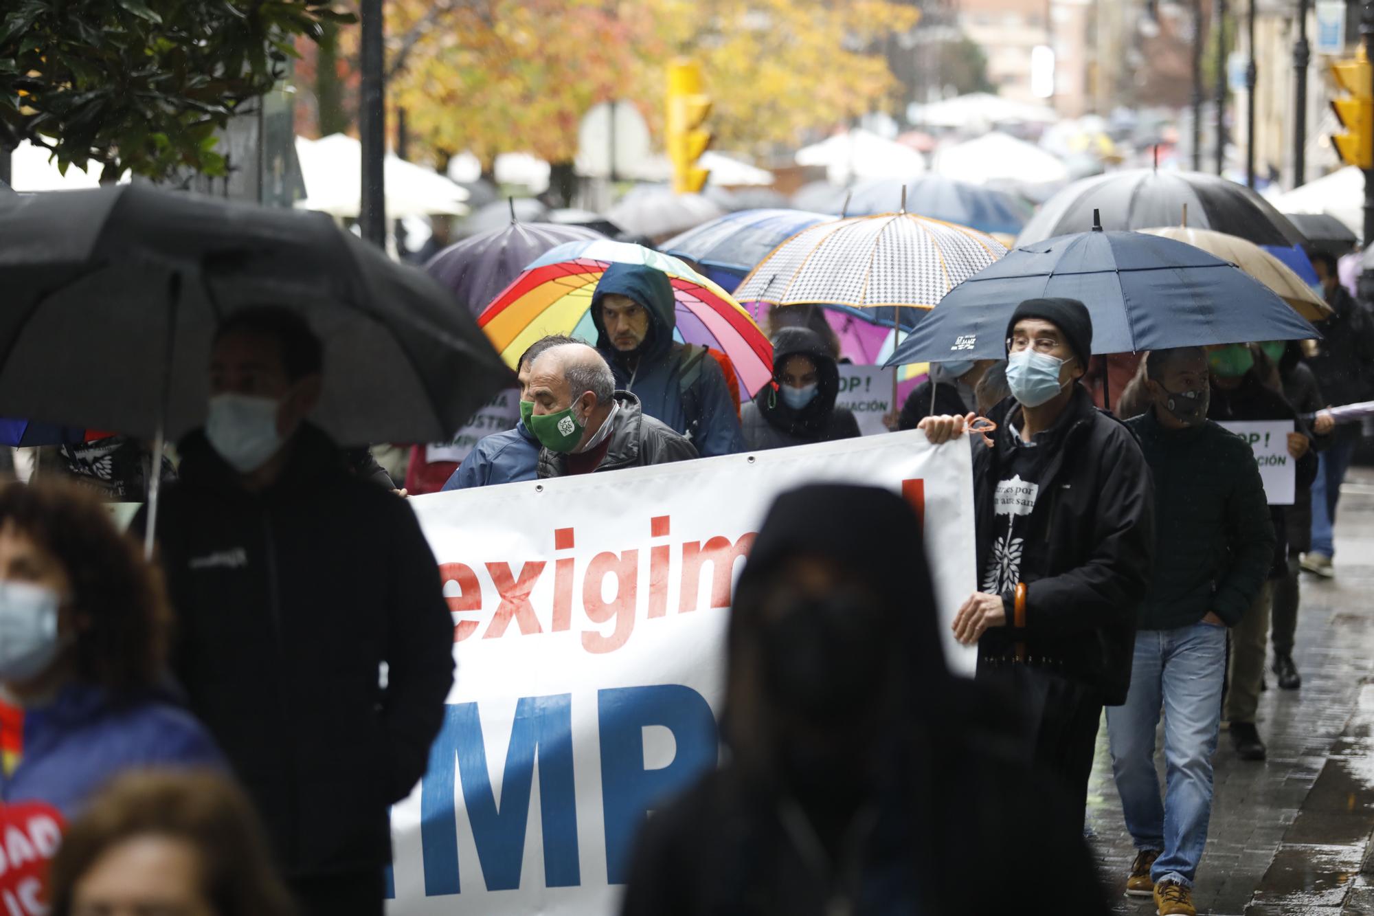
[[[730,293],[676,257],[628,242],[587,239],[548,250],[492,300],[477,323],[511,367],[545,334],[570,334],[595,347],[592,293],[617,263],[646,264],[668,275],[677,298],[673,340],[723,352],[749,396],[772,378],[772,345]]]

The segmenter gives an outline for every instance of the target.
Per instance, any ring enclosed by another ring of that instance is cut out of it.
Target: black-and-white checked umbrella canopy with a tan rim
[[[911,309],[934,308],[954,286],[1006,253],[992,237],[962,226],[912,213],[859,216],[797,232],[745,278],[735,298],[897,307],[892,320],[910,326],[921,315]]]

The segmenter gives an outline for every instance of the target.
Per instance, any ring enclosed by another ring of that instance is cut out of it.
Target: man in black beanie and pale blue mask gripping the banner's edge
[[[978,679],[1020,703],[1036,762],[1087,802],[1102,707],[1125,701],[1136,608],[1154,547],[1154,487],[1129,429],[1077,384],[1092,318],[1073,298],[1030,298],[1007,323],[1011,397],[974,458],[980,590],[954,622],[978,644]],[[927,417],[936,444],[973,415]]]

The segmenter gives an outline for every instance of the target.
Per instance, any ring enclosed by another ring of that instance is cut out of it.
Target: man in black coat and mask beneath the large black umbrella
[[[425,773],[453,684],[453,623],[409,505],[306,419],[326,371],[298,314],[232,312],[157,532],[176,674],[291,890],[306,913],[372,916],[387,809]]]

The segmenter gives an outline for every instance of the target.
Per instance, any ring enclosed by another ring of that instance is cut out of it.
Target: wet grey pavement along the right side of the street
[[[1260,700],[1268,761],[1238,759],[1226,732],[1217,744],[1212,824],[1194,888],[1200,913],[1374,916],[1371,469],[1351,472],[1336,545],[1334,580],[1303,576],[1294,651],[1303,688],[1279,690],[1271,673]],[[1088,787],[1088,828],[1116,912],[1154,913],[1149,898],[1124,897],[1135,849],[1121,820],[1105,723]]]

